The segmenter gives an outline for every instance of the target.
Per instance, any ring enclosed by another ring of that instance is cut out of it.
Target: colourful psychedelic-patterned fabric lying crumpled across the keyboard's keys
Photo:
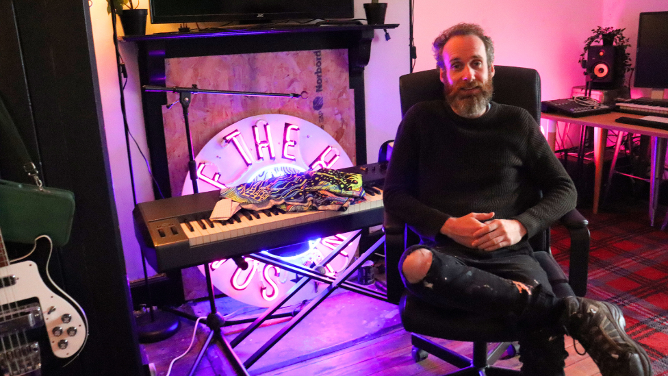
[[[329,168],[253,181],[220,191],[221,199],[241,203],[244,209],[277,206],[286,212],[342,210],[363,197],[360,174]]]

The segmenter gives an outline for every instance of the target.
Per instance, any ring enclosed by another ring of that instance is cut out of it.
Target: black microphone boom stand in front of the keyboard
[[[306,98],[307,92],[302,92],[301,94],[281,94],[281,93],[265,93],[265,92],[246,92],[246,91],[231,91],[231,90],[204,90],[197,88],[196,85],[193,85],[190,88],[183,87],[172,87],[167,88],[163,86],[151,86],[144,85],[142,86],[144,91],[147,92],[178,92],[179,93],[179,102],[181,103],[181,108],[183,108],[183,121],[185,122],[185,139],[188,141],[188,173],[190,174],[190,181],[192,181],[192,192],[198,193],[199,188],[197,185],[197,164],[195,162],[195,154],[192,149],[192,136],[190,133],[190,121],[188,120],[188,110],[190,108],[190,102],[192,101],[192,95],[194,93],[203,92],[207,94],[221,94],[221,95],[246,95],[251,97],[288,97],[288,98]],[[172,103],[173,105],[174,103]],[[171,105],[170,105],[171,106]],[[244,261],[243,258],[233,258],[233,261],[242,268],[246,270],[248,268],[248,263]],[[218,313],[216,309],[216,299],[214,296],[214,285],[211,282],[211,271],[209,271],[209,265],[204,266],[204,275],[207,283],[207,293],[209,294],[209,306],[211,312],[207,315],[205,324],[211,331],[209,331],[209,336],[204,342],[202,349],[197,354],[195,362],[190,368],[190,373],[188,376],[194,375],[196,368],[201,362],[203,356],[205,355],[209,344],[213,341],[218,349],[222,352],[224,358],[227,360],[228,364],[223,364],[223,366],[229,366],[228,372],[223,373],[224,375],[248,375],[246,367],[242,364],[241,360],[237,354],[233,351],[231,345],[227,341],[220,331],[220,328],[224,326],[225,319]]]

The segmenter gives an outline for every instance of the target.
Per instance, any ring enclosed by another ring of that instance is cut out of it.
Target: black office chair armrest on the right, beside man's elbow
[[[587,293],[587,276],[589,273],[589,221],[574,209],[559,220],[570,234],[571,258],[568,271],[568,284],[578,297]]]

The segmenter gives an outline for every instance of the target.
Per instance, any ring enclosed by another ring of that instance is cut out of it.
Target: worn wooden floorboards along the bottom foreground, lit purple
[[[192,323],[185,321],[177,338],[172,339],[173,342],[169,347],[160,347],[159,344],[149,345],[151,347],[149,361],[155,364],[157,376],[165,376],[170,361],[177,355],[181,355],[188,347],[193,327]],[[186,375],[190,371],[207,334],[208,330],[200,327],[190,353],[175,363],[170,376]],[[469,342],[448,340],[437,342],[463,355],[471,356],[472,346]],[[565,338],[565,343],[569,353],[565,361],[567,376],[600,375],[598,367],[589,355],[576,353],[574,342],[570,337]],[[580,344],[576,346],[578,351],[582,351]],[[305,362],[259,374],[253,373],[253,367],[251,367],[249,372],[255,376],[440,376],[457,371],[457,368],[433,355],[416,363],[411,356],[411,348],[411,334],[403,329],[396,329],[377,338]],[[216,363],[220,360],[217,351],[216,347],[209,348],[207,356],[197,368],[196,376],[220,375],[220,372],[216,371],[218,369]],[[496,365],[519,369],[521,363],[518,357],[514,357],[509,360],[500,360]]]

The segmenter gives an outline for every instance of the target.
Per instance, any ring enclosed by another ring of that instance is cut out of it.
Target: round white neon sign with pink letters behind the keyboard
[[[273,135],[283,135],[274,137]],[[326,131],[301,118],[284,114],[251,116],[220,131],[195,158],[200,192],[227,188],[288,173],[320,168],[352,166],[348,155]],[[181,195],[192,193],[186,176]],[[301,245],[264,251],[293,264],[313,268],[352,233],[313,239]],[[335,276],[350,263],[359,238],[326,264],[326,275]],[[242,271],[234,262],[211,262],[211,281],[218,290],[244,303],[268,307],[283,296],[300,276],[248,259]],[[204,273],[204,266],[199,266]],[[310,299],[318,290],[303,288],[291,302]]]

